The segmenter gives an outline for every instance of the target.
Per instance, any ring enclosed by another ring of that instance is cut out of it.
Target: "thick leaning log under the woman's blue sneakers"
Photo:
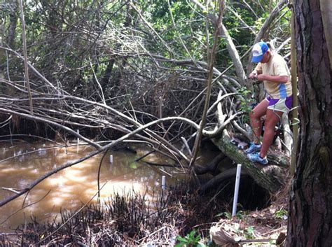
[[[258,164],[250,162],[247,156],[230,142],[230,136],[226,129],[219,138],[212,139],[213,143],[236,164],[242,164],[247,174],[256,181],[258,185],[270,193],[277,192],[284,185],[284,169],[274,164]]]

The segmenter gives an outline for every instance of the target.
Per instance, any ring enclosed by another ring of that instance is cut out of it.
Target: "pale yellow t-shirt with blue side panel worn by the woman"
[[[289,80],[286,83],[274,83],[269,80],[264,80],[263,83],[268,96],[273,99],[284,99],[291,96],[291,73],[282,56],[271,52],[269,62],[258,63],[256,71],[270,76],[288,76]]]

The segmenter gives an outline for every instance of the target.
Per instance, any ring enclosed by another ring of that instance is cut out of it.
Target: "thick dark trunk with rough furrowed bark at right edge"
[[[293,7],[300,153],[291,190],[286,246],[331,247],[331,61],[319,0],[295,0]]]

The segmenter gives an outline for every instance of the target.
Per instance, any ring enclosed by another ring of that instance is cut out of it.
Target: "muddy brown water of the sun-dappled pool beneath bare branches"
[[[144,146],[134,146],[134,149],[137,153],[107,153],[100,173],[100,185],[104,185],[100,192],[102,199],[133,190],[138,193],[160,190],[162,175],[166,176],[167,185],[179,181],[179,169],[133,162],[149,151]],[[92,150],[88,146],[55,147],[54,143],[0,142],[0,200],[13,195],[4,188],[25,188],[47,171],[77,160]],[[110,162],[110,155],[113,155],[113,163]],[[172,163],[172,160],[158,153],[148,155],[147,159],[155,163]],[[201,162],[207,162],[206,159],[202,157]],[[13,232],[18,225],[31,222],[32,218],[38,222],[60,218],[60,210],[76,210],[90,202],[97,193],[97,171],[101,160],[102,155],[96,155],[53,174],[36,185],[27,196],[18,197],[0,207],[0,232]],[[91,202],[95,201],[97,196]],[[23,204],[31,205],[22,209]]]

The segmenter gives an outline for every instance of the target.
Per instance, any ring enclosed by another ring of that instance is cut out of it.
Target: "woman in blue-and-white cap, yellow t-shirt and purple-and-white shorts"
[[[291,110],[291,76],[284,58],[273,52],[267,43],[256,43],[252,55],[251,62],[256,62],[258,65],[249,74],[249,78],[263,81],[268,97],[263,99],[249,115],[254,141],[245,152],[252,162],[268,164],[266,155],[275,136],[275,126],[281,120],[283,113]],[[265,131],[263,141],[260,143],[263,115],[266,115]]]

